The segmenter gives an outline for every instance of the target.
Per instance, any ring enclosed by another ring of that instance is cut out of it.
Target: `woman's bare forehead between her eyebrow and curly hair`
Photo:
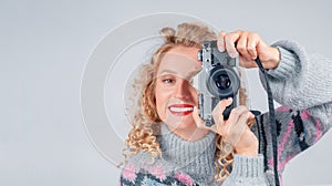
[[[201,69],[197,60],[198,48],[176,46],[162,58],[157,75],[173,73],[184,79],[190,79]]]

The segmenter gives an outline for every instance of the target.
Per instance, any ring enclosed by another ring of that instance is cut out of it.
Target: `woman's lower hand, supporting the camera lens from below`
[[[224,120],[224,111],[230,105],[232,99],[221,100],[212,111],[215,124],[210,127],[198,116],[198,111],[194,110],[194,120],[198,127],[205,127],[222,136],[222,141],[230,143],[237,154],[245,156],[258,155],[258,138],[250,131],[248,120],[255,115],[246,106],[237,106],[231,110],[229,118]]]

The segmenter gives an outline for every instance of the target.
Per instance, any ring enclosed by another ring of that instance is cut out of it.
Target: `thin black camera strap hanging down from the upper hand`
[[[280,186],[279,174],[278,174],[278,142],[277,142],[277,124],[276,124],[273,96],[272,96],[271,87],[270,87],[270,84],[268,81],[267,71],[264,70],[263,65],[261,64],[259,58],[257,58],[255,61],[256,61],[259,70],[263,73],[263,76],[264,76],[264,80],[267,83],[266,85],[267,85],[267,93],[268,93],[269,115],[270,115],[271,135],[272,135],[274,182],[276,182],[276,186]]]

